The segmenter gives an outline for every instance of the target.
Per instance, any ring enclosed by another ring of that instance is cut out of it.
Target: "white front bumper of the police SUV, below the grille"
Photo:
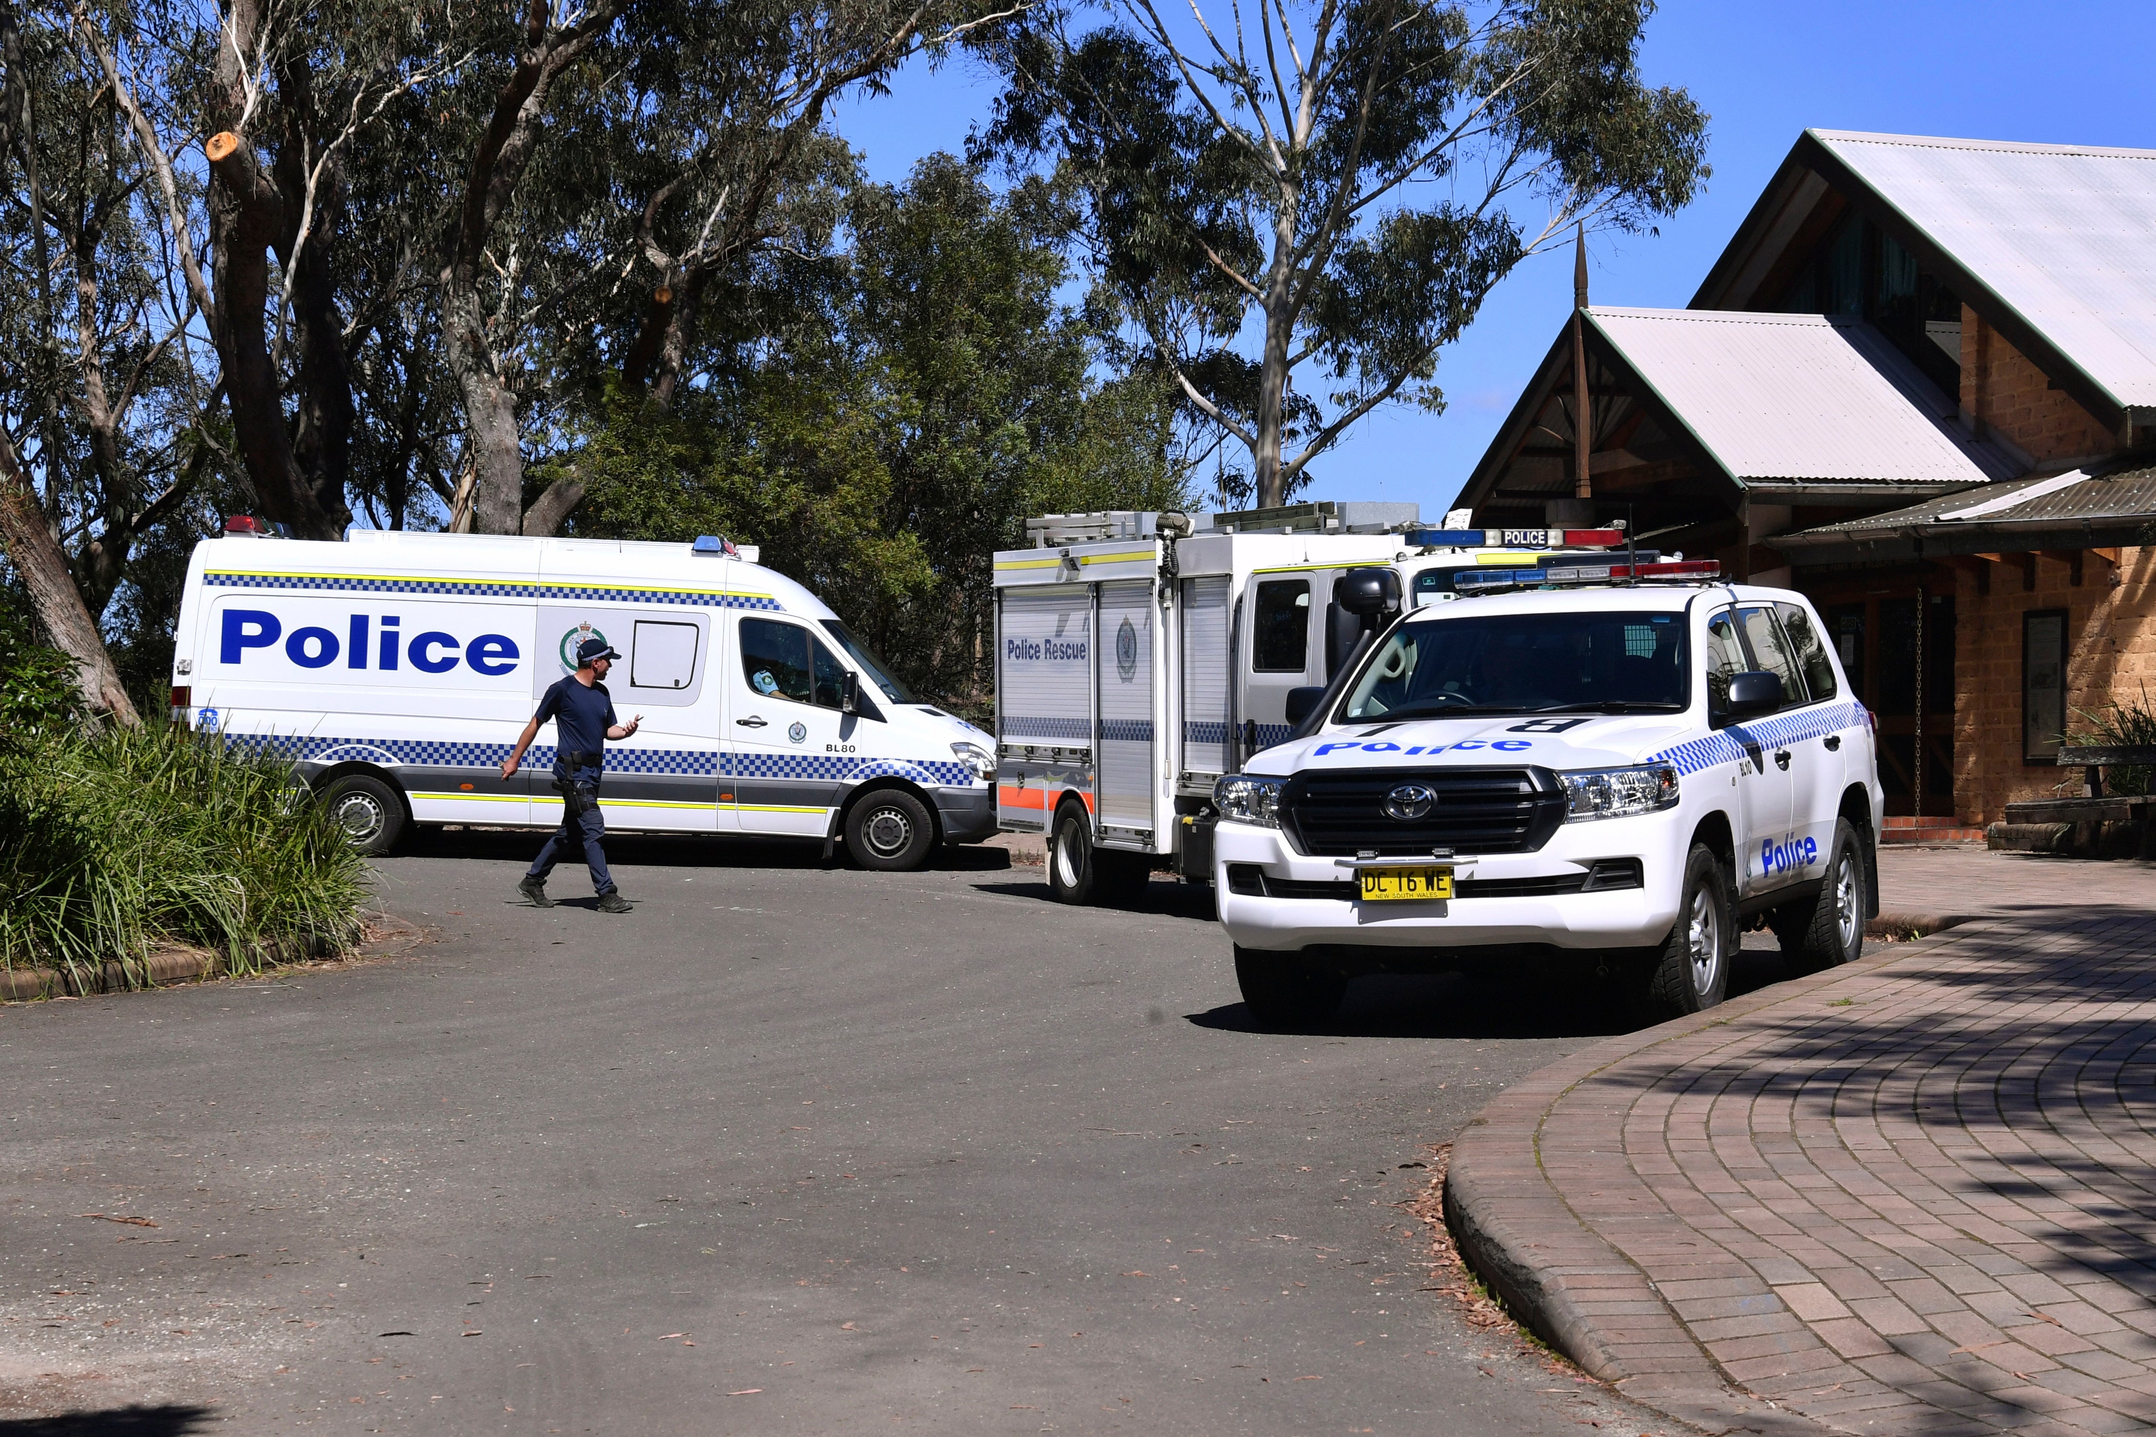
[[[1315,946],[1421,948],[1647,948],[1669,937],[1684,885],[1688,821],[1680,810],[1634,819],[1567,823],[1533,853],[1462,853],[1455,881],[1505,883],[1567,879],[1595,862],[1639,860],[1639,888],[1526,896],[1460,896],[1425,903],[1369,903],[1360,896],[1272,896],[1235,892],[1229,866],[1253,864],[1279,885],[1337,885],[1354,879],[1335,857],[1296,853],[1285,834],[1248,823],[1214,829],[1214,898],[1220,926],[1244,948]],[[1386,855],[1391,857],[1391,855]],[[1401,855],[1401,866],[1432,862]],[[1242,883],[1244,888],[1248,883]],[[1272,883],[1268,883],[1272,885]],[[1309,892],[1309,890],[1304,890]]]

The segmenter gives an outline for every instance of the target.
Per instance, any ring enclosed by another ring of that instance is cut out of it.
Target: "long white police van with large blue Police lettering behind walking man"
[[[869,868],[996,829],[992,739],[916,700],[815,595],[724,539],[354,530],[196,545],[175,717],[291,758],[351,842],[554,827],[552,728],[500,763],[586,638],[612,644],[599,808],[617,832],[843,840]]]

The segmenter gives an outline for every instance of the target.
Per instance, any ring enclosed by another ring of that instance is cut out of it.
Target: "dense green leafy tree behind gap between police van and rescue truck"
[[[1173,396],[1091,373],[1059,306],[1063,211],[949,155],[852,194],[843,267],[724,383],[671,411],[621,386],[580,422],[578,534],[757,543],[916,692],[990,692],[992,554],[1033,513],[1175,508]]]

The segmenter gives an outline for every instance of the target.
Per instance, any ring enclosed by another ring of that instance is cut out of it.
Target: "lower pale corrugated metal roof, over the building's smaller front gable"
[[[1587,310],[1673,416],[1744,483],[2005,478],[1953,405],[1884,334],[1839,315]]]

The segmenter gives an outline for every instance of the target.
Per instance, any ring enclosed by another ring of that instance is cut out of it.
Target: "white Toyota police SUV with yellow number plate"
[[[1350,575],[1360,659],[1214,793],[1253,1017],[1322,1019],[1356,974],[1567,954],[1695,1013],[1759,918],[1800,969],[1854,959],[1878,913],[1869,713],[1802,595],[1714,575],[1462,575],[1388,627],[1397,580]]]

